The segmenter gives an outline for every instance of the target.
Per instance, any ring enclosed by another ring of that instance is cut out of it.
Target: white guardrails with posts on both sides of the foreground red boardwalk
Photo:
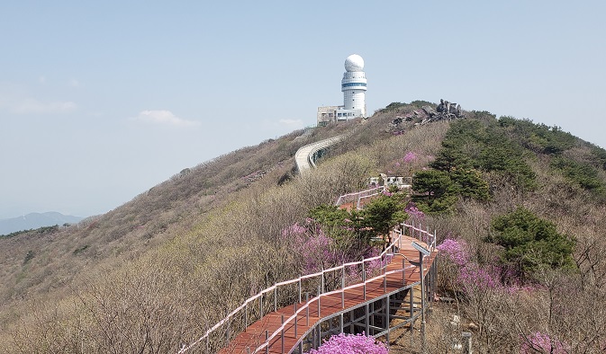
[[[423,230],[421,228],[421,226],[414,226],[414,224],[404,224],[402,223],[400,225],[399,230],[394,230],[393,231],[393,235],[396,235],[396,237],[393,239],[393,242],[390,243],[384,250],[384,252],[381,252],[381,254],[379,254],[378,256],[375,257],[369,257],[366,259],[363,259],[362,261],[353,261],[353,262],[348,262],[348,263],[344,263],[342,265],[339,265],[337,267],[333,267],[330,268],[328,270],[321,270],[320,272],[316,272],[313,274],[308,274],[308,275],[304,275],[301,276],[297,279],[290,279],[290,280],[285,280],[283,282],[279,282],[274,284],[273,286],[266,288],[262,291],[260,291],[257,295],[255,296],[250,296],[247,300],[244,301],[244,303],[242,305],[240,305],[239,307],[237,307],[236,309],[234,309],[233,311],[231,311],[230,314],[227,314],[227,316],[225,318],[223,318],[219,323],[216,323],[215,325],[213,325],[213,327],[211,327],[209,330],[207,330],[206,332],[204,332],[204,335],[202,335],[197,341],[194,341],[193,343],[187,345],[187,346],[183,346],[183,348],[181,348],[181,350],[178,351],[179,354],[181,353],[185,353],[187,350],[190,350],[192,348],[194,348],[195,346],[197,346],[198,344],[200,344],[202,341],[206,340],[207,341],[207,346],[208,341],[209,341],[209,336],[217,331],[218,329],[220,329],[222,327],[223,324],[225,323],[230,323],[231,319],[236,315],[239,314],[241,311],[244,311],[244,328],[248,327],[249,325],[249,318],[248,318],[248,309],[249,309],[249,304],[251,304],[252,302],[259,300],[259,303],[261,304],[259,306],[260,309],[260,318],[263,318],[264,314],[263,314],[263,296],[270,294],[270,293],[274,293],[274,310],[276,311],[277,309],[277,303],[276,303],[276,299],[277,299],[277,289],[279,287],[283,287],[286,285],[290,285],[290,284],[295,284],[298,283],[298,289],[299,289],[299,303],[302,302],[302,282],[303,280],[306,279],[314,279],[314,278],[320,278],[321,277],[321,286],[318,289],[318,296],[312,297],[311,299],[308,299],[306,301],[306,303],[298,308],[295,311],[295,314],[293,314],[292,316],[290,316],[289,318],[285,319],[284,323],[282,323],[282,325],[275,331],[273,332],[270,336],[268,335],[267,338],[265,338],[265,342],[263,344],[261,344],[260,346],[258,346],[255,350],[251,351],[251,353],[256,353],[258,352],[258,350],[263,350],[265,349],[268,345],[269,342],[274,340],[276,338],[276,336],[280,333],[283,333],[285,331],[285,326],[288,323],[293,322],[293,320],[295,318],[297,318],[297,316],[303,312],[303,310],[308,311],[309,310],[309,305],[312,304],[315,301],[318,301],[318,304],[320,305],[321,303],[321,297],[323,296],[330,296],[330,295],[334,295],[334,294],[338,294],[341,293],[341,298],[343,299],[344,294],[345,294],[345,290],[350,289],[350,288],[358,288],[358,287],[365,287],[365,297],[366,297],[366,284],[370,283],[371,281],[374,281],[376,279],[386,279],[387,275],[391,275],[394,273],[398,273],[398,272],[402,272],[402,281],[403,281],[403,277],[404,277],[404,270],[406,269],[410,269],[413,268],[413,266],[409,266],[409,267],[404,267],[403,265],[403,261],[402,261],[402,270],[391,270],[391,271],[385,271],[387,265],[389,264],[389,262],[392,259],[393,254],[395,253],[395,247],[397,245],[398,248],[401,248],[402,245],[402,236],[404,236],[404,229],[408,229],[409,233],[410,233],[410,237],[412,238],[418,238],[419,241],[426,243],[430,249],[430,252],[433,252],[435,250],[436,247],[436,233],[434,231],[434,234],[431,235],[429,230]],[[417,237],[415,237],[415,235],[417,235]],[[366,279],[366,266],[365,264],[371,261],[381,261],[381,266],[378,268],[378,270],[382,271],[382,274],[376,277],[373,277],[371,279]],[[348,267],[348,269],[351,268],[357,268],[357,266],[361,266],[361,279],[362,282],[360,283],[356,283],[353,285],[350,285],[348,287],[345,286],[345,270],[346,267]],[[330,291],[330,292],[323,292],[324,291],[324,279],[325,276],[327,274],[329,274],[330,272],[333,271],[341,271],[342,272],[342,278],[341,278],[341,288]],[[384,280],[385,281],[385,280]],[[344,303],[344,299],[342,300],[342,303]],[[320,306],[318,307],[320,309]],[[306,310],[307,309],[307,310]],[[319,310],[320,311],[320,310]],[[320,316],[320,314],[319,314]],[[259,319],[260,319],[259,318]],[[229,332],[229,331],[228,331]]]

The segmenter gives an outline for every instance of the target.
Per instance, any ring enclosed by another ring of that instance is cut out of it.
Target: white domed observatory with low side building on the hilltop
[[[345,59],[345,73],[341,80],[343,93],[342,106],[318,107],[318,126],[323,127],[331,121],[348,120],[357,117],[366,118],[366,75],[364,59],[357,54]]]

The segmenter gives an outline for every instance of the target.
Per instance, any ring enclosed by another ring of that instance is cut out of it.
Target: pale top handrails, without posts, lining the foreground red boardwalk
[[[416,231],[416,232],[418,232],[418,233],[419,233],[419,241],[426,243],[426,244],[427,244],[427,245],[430,247],[430,251],[431,251],[431,252],[433,252],[433,251],[435,250],[435,244],[436,244],[436,235],[435,235],[435,231],[434,231],[434,235],[431,235],[431,234],[430,234],[430,232],[429,232],[429,230],[428,230],[428,231],[425,231],[425,230],[421,229],[421,225],[419,225],[419,227],[415,227],[415,226],[414,226],[414,223],[412,223],[412,225],[402,223],[402,224],[400,224],[400,226],[402,226],[402,228],[403,228],[403,227],[409,227],[409,229],[411,230],[411,233],[412,233],[412,235],[411,235],[411,236],[412,236],[412,238],[414,238],[414,232],[415,232],[415,231]],[[324,274],[326,274],[326,273],[328,273],[328,272],[330,272],[330,271],[335,271],[335,270],[344,270],[344,269],[345,269],[345,267],[351,267],[351,266],[355,266],[355,265],[359,265],[359,264],[364,264],[364,263],[369,262],[369,261],[378,261],[378,260],[381,260],[382,262],[381,262],[381,267],[379,268],[379,270],[383,270],[384,268],[386,269],[386,267],[387,267],[387,263],[388,263],[388,262],[387,262],[387,261],[385,261],[385,262],[383,263],[384,256],[386,256],[386,255],[388,255],[388,254],[389,254],[389,255],[392,255],[392,254],[393,254],[393,253],[389,253],[389,251],[390,251],[390,250],[392,250],[392,249],[393,249],[393,247],[395,247],[395,246],[396,246],[396,244],[397,244],[397,245],[400,245],[400,244],[401,244],[402,236],[404,235],[404,233],[403,233],[403,229],[400,229],[399,233],[398,233],[398,232],[394,232],[394,233],[395,233],[395,235],[398,235],[398,236],[397,236],[395,239],[393,239],[393,242],[392,242],[392,243],[390,243],[390,244],[389,244],[389,245],[388,245],[388,246],[387,246],[387,247],[384,249],[384,251],[383,251],[383,252],[381,252],[381,254],[379,254],[379,255],[377,255],[377,256],[375,256],[375,257],[369,257],[369,258],[365,258],[365,259],[363,259],[362,261],[352,261],[352,262],[348,262],[348,263],[343,263],[343,264],[341,264],[341,265],[339,265],[339,266],[332,267],[332,268],[330,268],[330,269],[328,269],[328,270],[321,270],[320,272],[316,272],[316,273],[313,273],[313,274],[307,274],[307,275],[303,275],[303,276],[301,276],[301,277],[299,277],[299,278],[297,278],[297,279],[289,279],[289,280],[285,280],[285,281],[282,281],[282,282],[276,283],[276,284],[274,284],[273,286],[268,287],[268,288],[266,288],[266,289],[264,289],[264,290],[261,290],[260,292],[258,292],[258,294],[257,294],[257,295],[250,296],[248,299],[246,299],[246,300],[244,301],[244,303],[242,303],[242,305],[238,306],[236,309],[234,309],[233,311],[231,311],[231,313],[230,313],[230,314],[227,314],[227,316],[226,316],[225,318],[223,318],[221,321],[219,321],[218,323],[216,323],[215,325],[213,325],[213,327],[211,327],[211,328],[210,328],[210,329],[208,329],[206,332],[204,332],[204,335],[203,335],[202,337],[200,337],[198,340],[196,340],[196,341],[192,342],[192,343],[191,343],[190,345],[188,345],[188,346],[185,346],[185,345],[184,345],[184,346],[183,346],[183,347],[182,347],[182,348],[181,348],[181,349],[178,351],[178,353],[179,353],[179,354],[181,354],[181,353],[185,353],[185,351],[187,351],[187,350],[190,350],[190,349],[194,348],[194,347],[195,347],[196,345],[198,345],[198,344],[199,344],[201,341],[204,341],[204,339],[208,338],[208,337],[209,337],[209,335],[211,335],[211,334],[212,334],[213,332],[215,332],[215,331],[216,331],[218,328],[220,328],[220,327],[222,326],[222,324],[229,322],[229,321],[231,320],[231,317],[233,317],[235,314],[238,314],[238,313],[239,313],[239,312],[240,312],[242,309],[244,309],[245,307],[247,307],[247,305],[249,305],[249,303],[251,303],[251,302],[253,302],[253,301],[257,300],[257,299],[258,299],[258,297],[260,297],[260,296],[264,296],[265,294],[267,294],[267,293],[269,293],[269,292],[271,292],[271,291],[274,291],[274,290],[275,290],[275,289],[277,289],[278,287],[285,286],[285,285],[289,285],[289,284],[294,284],[294,283],[297,283],[297,282],[302,281],[302,280],[304,280],[304,279],[312,279],[312,278],[315,278],[315,277],[320,277],[320,276],[322,276],[322,277],[323,277],[323,276],[324,276]],[[423,241],[423,239],[422,239],[423,237],[422,237],[421,235],[425,235],[424,239],[425,239],[427,242]],[[406,269],[406,268],[404,268],[404,269]],[[395,272],[404,271],[404,269],[402,269],[402,270],[391,270],[391,271],[389,272],[389,274],[393,274],[393,273],[395,273]],[[422,270],[421,270],[421,271],[422,271]],[[354,285],[352,285],[352,286],[349,286],[348,288],[350,288],[350,287],[356,288],[356,287],[358,287],[358,286],[364,286],[365,284],[367,284],[367,283],[368,283],[368,282],[370,282],[370,281],[373,281],[373,280],[375,280],[375,279],[379,279],[379,278],[383,278],[383,277],[385,277],[385,276],[386,276],[386,275],[385,275],[385,271],[384,271],[383,273],[384,273],[384,274],[382,274],[382,275],[378,276],[378,278],[377,278],[377,277],[375,277],[375,278],[373,278],[373,279],[366,279],[365,281],[363,281],[363,282],[361,282],[361,283],[354,284]],[[333,293],[335,293],[335,292],[339,292],[339,293],[340,293],[340,292],[342,292],[342,291],[345,291],[345,290],[346,290],[346,289],[348,289],[348,288],[341,288],[341,289],[338,289],[338,290],[333,290],[333,291],[332,291],[332,292],[330,292],[330,293],[322,293],[322,294],[319,294],[318,296],[313,297],[313,298],[312,298],[312,300],[317,300],[319,297],[321,297],[321,296],[326,296],[327,294],[333,294]],[[310,302],[311,302],[311,301],[309,301],[307,304],[309,304]],[[305,307],[303,306],[302,308],[305,308]],[[298,312],[297,312],[297,314],[298,314]],[[294,315],[293,315],[293,316],[291,316],[291,317],[288,319],[288,321],[290,321],[290,320],[291,320],[293,317],[294,317]],[[288,321],[285,321],[285,323],[288,323]],[[280,328],[281,328],[281,329],[284,329],[284,324],[283,324],[283,325],[282,325]],[[279,331],[279,330],[278,330],[278,331]],[[254,351],[253,351],[253,353],[257,352],[257,351],[258,351],[258,350],[260,350],[260,349],[265,348],[265,346],[267,346],[268,342],[269,342],[269,341],[271,341],[273,338],[275,338],[275,336],[276,336],[276,332],[274,332],[274,333],[272,334],[272,336],[271,336],[271,337],[269,337],[269,338],[267,339],[267,341],[265,342],[265,344],[264,344],[264,345],[261,345],[261,347],[258,347],[258,349],[257,349],[257,350],[254,350]]]

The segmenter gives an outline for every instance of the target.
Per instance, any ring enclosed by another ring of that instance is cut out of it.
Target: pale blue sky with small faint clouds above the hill
[[[457,4],[456,4],[457,3]],[[604,1],[5,1],[0,218],[103,214],[313,126],[365,60],[369,112],[440,98],[606,147]]]

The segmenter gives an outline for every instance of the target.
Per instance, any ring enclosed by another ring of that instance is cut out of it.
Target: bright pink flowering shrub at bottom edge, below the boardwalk
[[[318,350],[310,350],[309,354],[388,354],[388,350],[384,343],[366,337],[364,332],[356,335],[340,333],[330,337]]]

